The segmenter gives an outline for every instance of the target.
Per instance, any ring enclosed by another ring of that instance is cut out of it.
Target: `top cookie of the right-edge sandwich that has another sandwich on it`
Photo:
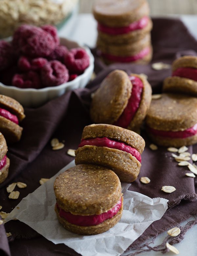
[[[197,123],[197,98],[162,94],[151,102],[146,124],[161,131],[184,131]]]

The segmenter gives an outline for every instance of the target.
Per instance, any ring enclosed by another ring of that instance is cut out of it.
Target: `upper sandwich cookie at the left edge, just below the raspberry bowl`
[[[24,118],[24,109],[16,100],[0,95],[0,132],[7,143],[20,140],[23,128],[19,126],[19,121]]]

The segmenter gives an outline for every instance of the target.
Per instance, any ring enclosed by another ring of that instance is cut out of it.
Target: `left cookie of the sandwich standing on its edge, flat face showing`
[[[126,72],[112,71],[94,94],[91,119],[96,123],[114,123],[126,107],[131,90],[132,84]]]

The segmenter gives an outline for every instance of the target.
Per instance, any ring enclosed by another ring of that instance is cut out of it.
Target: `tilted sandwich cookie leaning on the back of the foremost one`
[[[139,175],[143,138],[130,130],[109,124],[84,127],[75,151],[75,163],[96,164],[113,170],[121,182],[132,182]]]

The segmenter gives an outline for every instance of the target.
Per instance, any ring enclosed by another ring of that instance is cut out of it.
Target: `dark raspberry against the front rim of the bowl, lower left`
[[[12,79],[12,85],[19,88],[41,88],[41,80],[39,75],[34,71],[24,74],[15,74]]]

